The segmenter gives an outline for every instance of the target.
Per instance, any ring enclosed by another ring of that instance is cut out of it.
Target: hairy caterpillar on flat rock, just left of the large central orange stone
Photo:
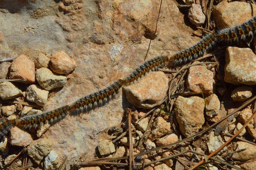
[[[96,107],[106,104],[116,95],[116,93],[123,86],[123,84],[123,80],[118,80],[105,89],[78,99],[70,106],[70,112],[88,112]]]

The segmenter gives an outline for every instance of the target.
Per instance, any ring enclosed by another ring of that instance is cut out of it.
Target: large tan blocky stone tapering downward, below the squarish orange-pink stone
[[[204,124],[204,99],[178,96],[174,101],[174,113],[180,132],[185,137],[195,135]]]

